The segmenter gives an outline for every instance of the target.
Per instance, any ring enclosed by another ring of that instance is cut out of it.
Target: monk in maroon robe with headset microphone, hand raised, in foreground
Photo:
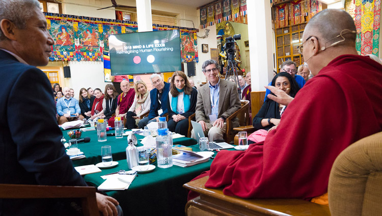
[[[315,76],[294,99],[266,87],[276,94],[268,98],[288,105],[280,124],[244,152],[220,151],[204,174],[206,187],[242,198],[309,200],[327,192],[342,150],[382,130],[382,66],[358,55],[350,15],[323,10],[309,21],[302,41]]]

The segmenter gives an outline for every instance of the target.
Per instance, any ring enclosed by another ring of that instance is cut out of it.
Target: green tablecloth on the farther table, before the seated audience
[[[69,141],[68,132],[69,130],[64,130],[63,135],[67,141]],[[108,131],[108,133],[112,133],[112,131]],[[90,137],[89,143],[78,143],[78,148],[85,153],[86,158],[73,160],[73,166],[83,166],[90,164],[98,164],[102,161],[101,158],[101,147],[110,145],[112,146],[112,155],[113,160],[122,160],[126,159],[126,147],[127,147],[127,137],[123,137],[121,139],[116,139],[115,137],[107,137],[106,142],[98,142],[97,140],[97,131],[84,131],[82,132],[81,138]],[[137,134],[138,139],[143,139],[144,137]],[[190,146],[197,144],[195,139],[191,138],[177,138],[173,140],[174,145],[183,145]],[[142,146],[140,140],[138,140],[138,146]]]

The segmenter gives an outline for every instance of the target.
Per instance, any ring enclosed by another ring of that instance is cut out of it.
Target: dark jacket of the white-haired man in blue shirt
[[[169,91],[170,91],[170,84],[165,82],[165,87],[163,87],[163,93],[160,101],[162,102],[162,111],[163,113],[160,114],[160,117],[165,115],[167,113],[167,100],[169,99]],[[153,119],[158,115],[158,110],[160,110],[159,106],[159,99],[158,99],[158,90],[154,88],[150,91],[150,99],[151,99],[151,105],[150,105],[150,113],[149,113],[149,119]]]

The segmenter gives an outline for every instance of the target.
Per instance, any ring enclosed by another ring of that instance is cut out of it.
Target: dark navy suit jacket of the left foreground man
[[[87,185],[61,143],[46,75],[3,50],[0,65],[0,183]],[[44,214],[51,202],[0,199],[0,215]]]

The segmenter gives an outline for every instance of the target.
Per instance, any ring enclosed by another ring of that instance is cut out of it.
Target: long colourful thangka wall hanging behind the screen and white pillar
[[[108,35],[138,31],[137,22],[102,19],[67,14],[44,13],[47,29],[53,37],[49,61],[102,61],[103,50],[108,51]],[[196,47],[196,29],[153,24],[153,31],[179,29],[190,35]],[[189,56],[189,57],[187,57]],[[182,62],[198,62],[198,50],[182,57]]]

